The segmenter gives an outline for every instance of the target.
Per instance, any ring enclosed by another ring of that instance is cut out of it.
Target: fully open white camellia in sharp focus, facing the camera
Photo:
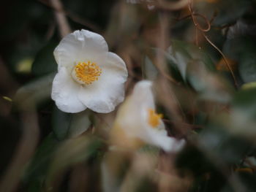
[[[91,31],[75,31],[54,50],[58,73],[51,97],[64,112],[111,112],[124,100],[127,67],[108,52],[105,39]]]

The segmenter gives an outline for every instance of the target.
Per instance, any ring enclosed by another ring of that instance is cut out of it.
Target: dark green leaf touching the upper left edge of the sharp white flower
[[[37,53],[32,65],[32,73],[36,76],[42,76],[57,71],[57,64],[53,57],[53,50],[56,48],[56,42],[49,42]]]

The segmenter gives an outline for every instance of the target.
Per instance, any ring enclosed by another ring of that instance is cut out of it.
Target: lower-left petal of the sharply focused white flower
[[[78,99],[80,85],[72,80],[65,67],[60,67],[53,80],[51,97],[63,112],[81,112],[86,106]]]

